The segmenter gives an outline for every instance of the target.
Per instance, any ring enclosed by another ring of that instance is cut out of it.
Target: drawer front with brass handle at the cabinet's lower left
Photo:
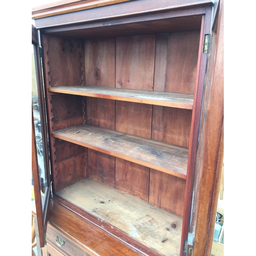
[[[70,256],[90,256],[87,252],[83,251],[82,249],[74,245],[69,239],[63,236],[59,231],[54,229],[49,223],[48,223],[47,232],[46,232],[46,241],[50,242],[50,245],[54,245],[55,248],[58,248],[60,252],[63,251]],[[67,254],[63,254],[63,255],[67,255]]]

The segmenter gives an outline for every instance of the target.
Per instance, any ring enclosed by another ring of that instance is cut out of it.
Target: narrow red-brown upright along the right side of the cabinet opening
[[[191,221],[193,221],[193,195],[195,193],[195,173],[196,173],[196,160],[199,141],[200,119],[202,112],[202,101],[204,95],[205,84],[205,71],[207,68],[208,53],[204,53],[204,41],[205,35],[210,34],[212,7],[206,7],[205,15],[202,16],[201,33],[199,42],[199,54],[198,54],[198,67],[196,76],[196,86],[194,95],[194,107],[192,114],[192,124],[190,130],[188,163],[187,163],[187,182],[185,188],[185,202],[184,202],[184,214],[181,236],[181,248],[180,255],[186,256],[187,254],[187,242],[188,237],[190,241],[193,241],[191,237]]]

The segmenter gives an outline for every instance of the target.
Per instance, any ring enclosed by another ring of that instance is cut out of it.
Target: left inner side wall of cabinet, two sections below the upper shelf
[[[83,123],[82,97],[75,95],[52,95],[52,127],[54,131]],[[54,161],[54,191],[55,193],[86,176],[84,158],[87,149],[67,141],[53,145],[55,147]],[[70,155],[70,156],[69,156]]]

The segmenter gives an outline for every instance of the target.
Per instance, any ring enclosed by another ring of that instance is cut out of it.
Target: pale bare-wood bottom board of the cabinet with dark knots
[[[57,195],[163,255],[179,255],[182,218],[178,216],[91,178],[82,179]]]

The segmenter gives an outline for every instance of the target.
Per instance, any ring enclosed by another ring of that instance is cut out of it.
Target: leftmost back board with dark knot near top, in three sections
[[[86,85],[115,87],[115,38],[84,41]],[[115,101],[87,97],[87,124],[115,130]],[[115,157],[88,150],[88,176],[114,187]]]

